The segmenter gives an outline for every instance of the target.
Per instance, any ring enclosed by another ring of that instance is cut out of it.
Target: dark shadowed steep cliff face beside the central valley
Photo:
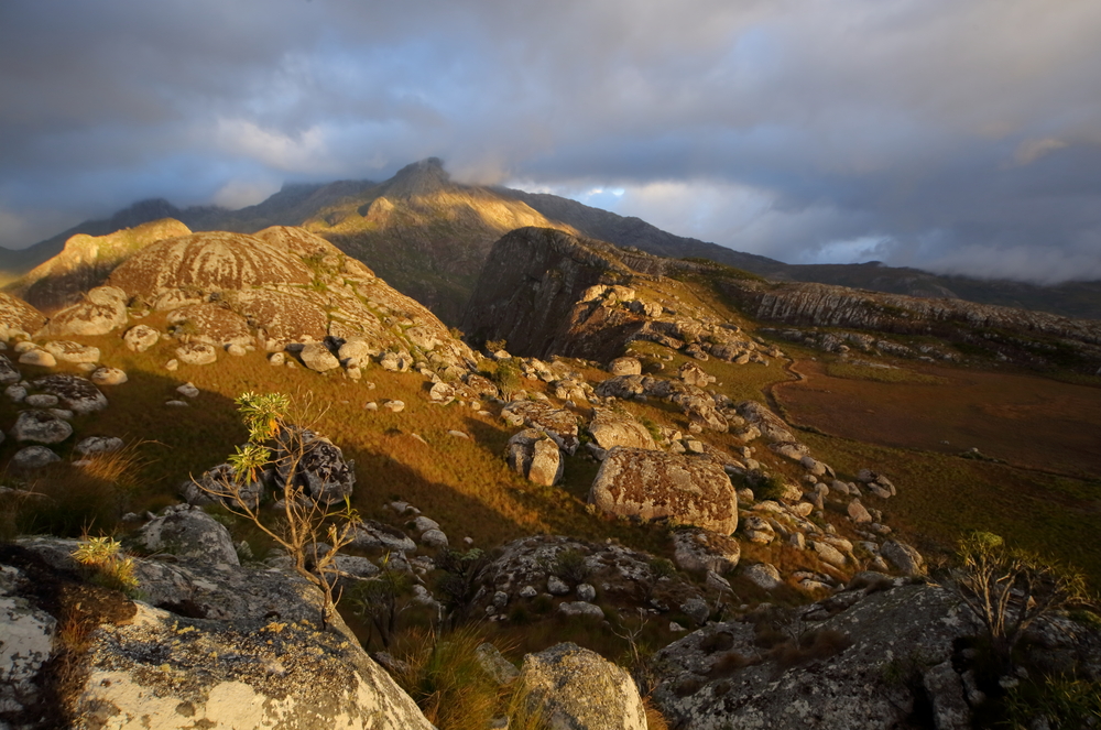
[[[521,228],[493,244],[462,319],[473,341],[508,340],[515,355],[569,351],[570,313],[585,290],[628,275],[607,243],[548,228]]]

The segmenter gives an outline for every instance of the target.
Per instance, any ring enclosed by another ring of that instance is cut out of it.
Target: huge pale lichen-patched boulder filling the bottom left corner
[[[59,698],[63,705],[46,708],[47,717],[57,717],[48,727],[69,727],[63,718],[78,717],[95,720],[87,727],[105,728],[430,730],[339,615],[330,615],[328,630],[320,627],[320,593],[303,578],[276,569],[134,558],[145,602],[131,602],[74,580],[77,544],[23,540],[18,549],[30,554],[19,566],[23,575],[8,565],[0,569],[0,602],[18,581],[15,600],[26,597],[28,603],[17,606],[19,621],[12,622],[20,642],[11,646],[24,651],[11,672],[21,685],[11,689],[47,686],[46,671],[36,667],[48,669],[39,649],[63,618],[56,596],[70,603],[83,599],[83,619],[99,624],[72,667],[80,684]],[[12,634],[2,635],[7,646]],[[0,672],[7,666],[0,664]],[[0,683],[0,693],[9,686]]]

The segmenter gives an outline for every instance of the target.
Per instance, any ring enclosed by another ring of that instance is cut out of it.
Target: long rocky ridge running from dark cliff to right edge
[[[545,229],[520,229],[494,246],[465,315],[464,329],[475,341],[503,339],[516,352],[536,357],[557,353],[608,360],[625,344],[640,339],[730,357],[745,350],[727,341],[733,335],[715,323],[689,323],[675,307],[623,301],[622,294],[615,293],[617,285],[636,287],[662,276],[715,287],[750,317],[763,322],[894,333],[944,342],[939,347],[926,345],[928,351],[914,351],[915,358],[935,352],[940,358],[959,359],[958,353],[947,353],[960,345],[1033,367],[1066,367],[1090,374],[1101,369],[1101,322],[955,298],[772,283],[706,262],[651,257]],[[598,285],[609,293],[599,293]],[[848,349],[843,335],[831,337],[822,347]]]

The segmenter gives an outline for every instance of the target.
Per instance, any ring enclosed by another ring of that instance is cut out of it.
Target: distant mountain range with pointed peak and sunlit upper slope
[[[286,184],[268,199],[238,210],[217,206],[177,208],[161,198],[141,200],[109,219],[85,221],[25,250],[0,249],[2,276],[11,281],[30,271],[61,252],[65,241],[76,233],[102,236],[161,218],[175,218],[194,231],[250,233],[269,226],[303,226],[349,255],[369,261],[399,291],[424,302],[450,323],[459,319],[492,243],[523,226],[560,228],[656,255],[710,259],[777,281],[958,297],[1101,318],[1101,282],[1039,286],[935,274],[879,262],[788,264],[676,236],[640,218],[556,195],[457,183],[435,157],[407,165],[382,183]]]

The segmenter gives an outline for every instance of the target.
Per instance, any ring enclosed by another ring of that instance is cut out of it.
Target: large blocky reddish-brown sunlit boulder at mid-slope
[[[668,520],[729,535],[738,529],[738,494],[722,466],[634,448],[613,448],[600,466],[589,502],[604,512]]]

